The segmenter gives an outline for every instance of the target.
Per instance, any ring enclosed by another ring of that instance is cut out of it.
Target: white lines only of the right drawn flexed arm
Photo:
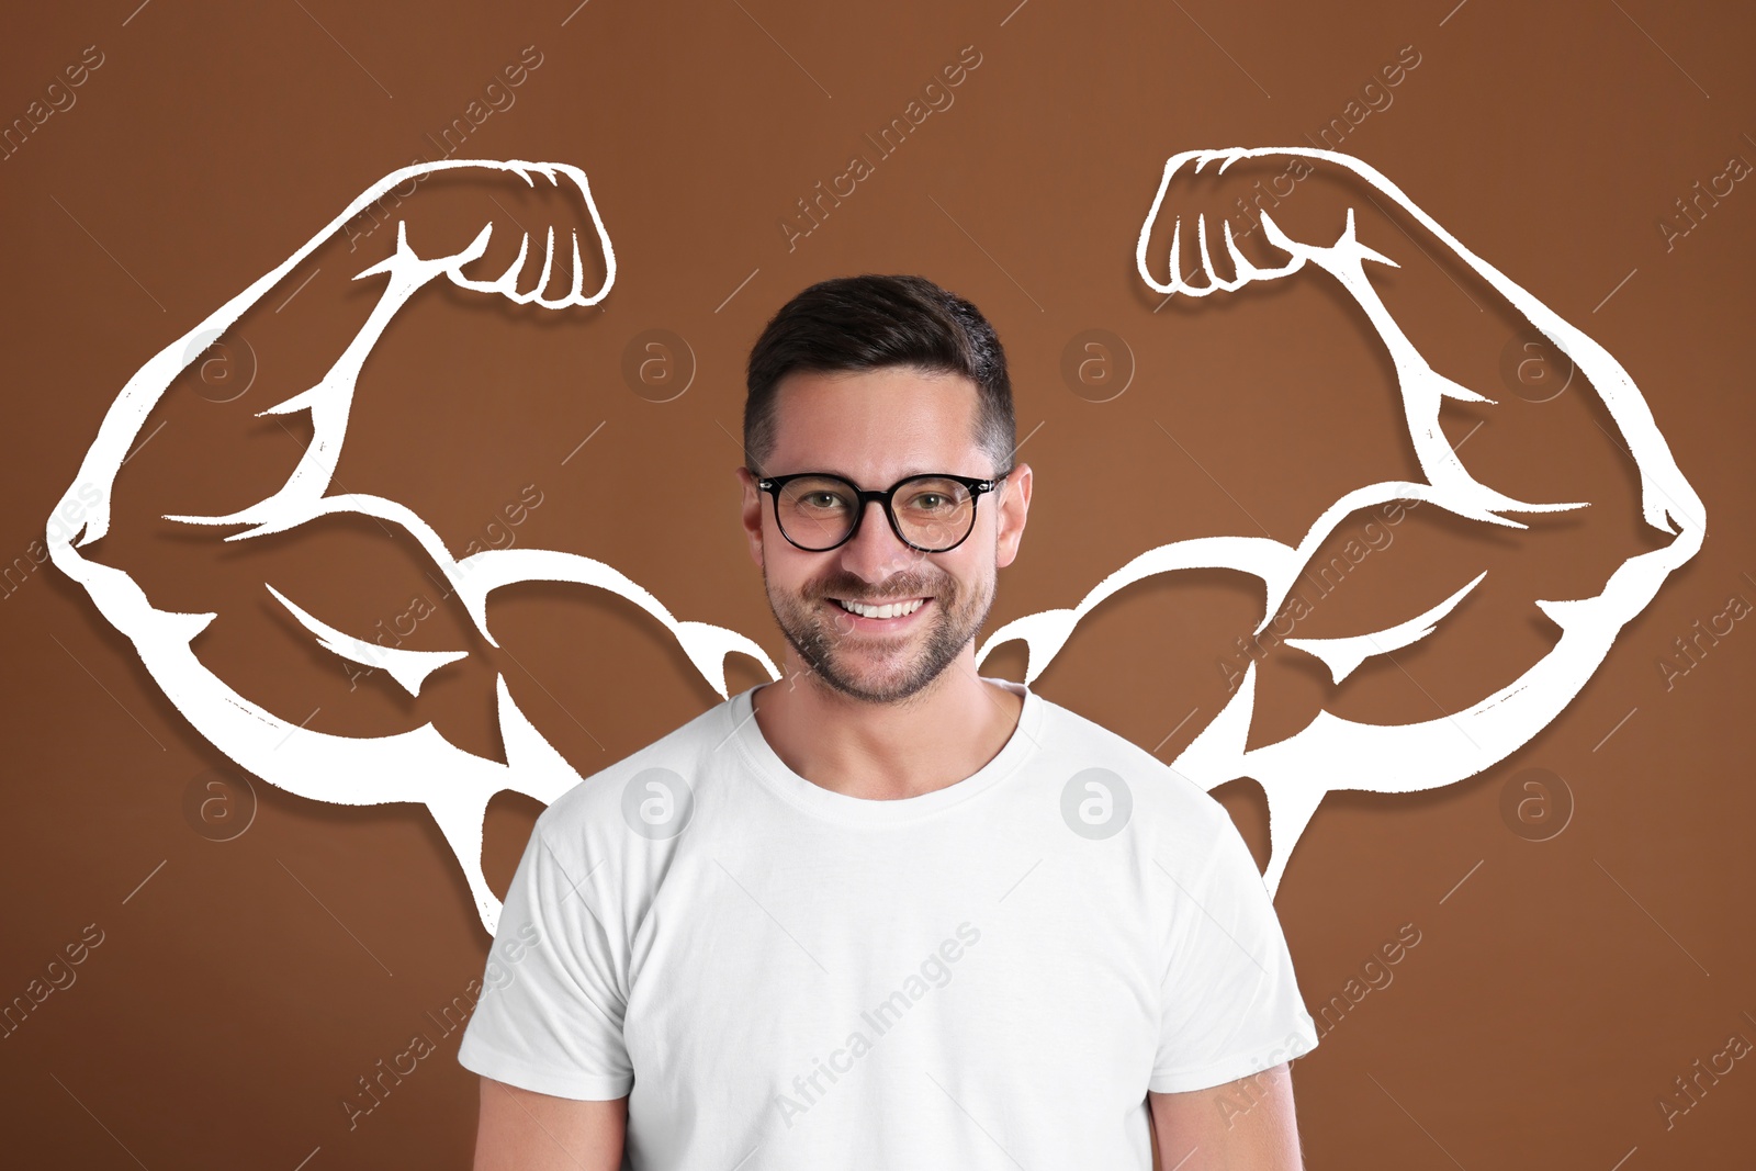
[[[1238,251],[1229,221],[1222,219],[1220,232],[1210,232],[1205,214],[1198,218],[1194,246],[1189,246],[1184,218],[1175,207],[1173,184],[1180,174],[1187,177],[1206,167],[1224,172],[1238,160],[1266,156],[1324,160],[1354,172],[1373,191],[1394,200],[1408,216],[1450,248],[1457,260],[1470,265],[1531,327],[1554,342],[1596,388],[1605,409],[1621,430],[1621,437],[1640,471],[1642,518],[1652,528],[1673,537],[1663,548],[1640,553],[1617,565],[1603,590],[1594,597],[1538,600],[1536,606],[1542,613],[1561,630],[1549,653],[1493,695],[1436,720],[1378,725],[1343,720],[1329,711],[1321,711],[1299,732],[1247,750],[1245,737],[1256,706],[1256,664],[1252,662],[1231,700],[1178,753],[1171,767],[1206,790],[1243,776],[1254,778],[1263,787],[1268,799],[1270,832],[1270,862],[1263,878],[1270,892],[1278,892],[1292,848],[1326,794],[1336,790],[1408,794],[1452,785],[1505,760],[1547,727],[1579,695],[1598,664],[1603,662],[1616,636],[1635,614],[1645,609],[1665,578],[1702,548],[1707,535],[1707,513],[1702,499],[1677,469],[1670,446],[1652,421],[1652,413],[1628,370],[1603,346],[1563,321],[1559,314],[1465,248],[1457,237],[1435,223],[1375,169],[1349,154],[1303,147],[1184,151],[1164,165],[1164,177],[1159,181],[1152,211],[1140,228],[1134,260],[1141,279],[1159,293],[1208,297],[1215,291],[1238,290],[1252,281],[1291,276],[1306,263],[1335,277],[1359,304],[1373,330],[1389,348],[1401,390],[1408,439],[1426,483],[1396,481],[1356,488],[1324,509],[1296,548],[1268,537],[1201,537],[1148,550],[1099,581],[1078,606],[1027,614],[994,630],[976,651],[978,662],[996,646],[1022,639],[1029,655],[1026,683],[1034,681],[1066,646],[1080,620],[1099,602],[1136,581],[1180,569],[1234,569],[1261,579],[1264,616],[1254,630],[1259,636],[1280,613],[1296,578],[1310,565],[1324,539],[1349,513],[1375,504],[1421,500],[1457,516],[1508,528],[1526,528],[1526,525],[1503,516],[1503,513],[1554,513],[1586,507],[1582,502],[1531,504],[1514,500],[1479,483],[1465,471],[1463,462],[1438,427],[1440,404],[1443,399],[1493,400],[1433,370],[1385,311],[1384,302],[1366,279],[1364,265],[1373,262],[1394,267],[1394,262],[1356,239],[1352,211],[1347,214],[1342,235],[1326,248],[1289,239],[1264,211],[1261,226],[1266,239],[1289,255],[1289,260],[1277,269],[1256,267]],[[1171,232],[1171,255],[1164,258],[1168,263],[1168,279],[1164,281],[1154,277],[1147,256],[1147,242],[1161,214],[1177,216]],[[1213,235],[1224,239],[1226,255],[1233,263],[1233,277],[1229,279],[1215,272],[1213,244],[1210,244]],[[1189,253],[1185,255],[1184,249]],[[1191,283],[1184,274],[1196,269],[1199,269],[1199,283]],[[1457,592],[1433,609],[1389,629],[1340,639],[1287,639],[1287,643],[1321,658],[1329,667],[1333,679],[1340,683],[1371,655],[1385,655],[1429,636],[1443,623],[1445,614],[1480,585],[1482,578],[1486,572],[1477,574],[1473,581],[1459,583]]]

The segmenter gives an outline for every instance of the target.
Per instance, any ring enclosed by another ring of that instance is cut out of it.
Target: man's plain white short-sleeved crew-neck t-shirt
[[[1317,1046],[1224,806],[1020,683],[973,776],[813,785],[750,695],[537,818],[458,1060],[637,1171],[1148,1171],[1147,1090]]]

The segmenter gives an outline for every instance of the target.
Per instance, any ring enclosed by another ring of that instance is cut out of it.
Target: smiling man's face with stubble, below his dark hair
[[[922,472],[994,478],[1004,471],[973,442],[976,386],[957,374],[892,367],[855,374],[795,372],[776,390],[776,442],[764,474],[836,472],[883,490]],[[1022,476],[1020,476],[1022,474]],[[975,530],[954,550],[922,553],[867,504],[859,532],[822,553],[799,550],[774,523],[771,493],[745,481],[745,528],[769,606],[792,650],[836,692],[867,702],[908,699],[966,653],[994,604],[997,569],[1017,555],[1029,467],[976,500]],[[1022,483],[1018,483],[1022,481]],[[1022,490],[1020,490],[1022,488]],[[843,602],[924,602],[866,618]]]

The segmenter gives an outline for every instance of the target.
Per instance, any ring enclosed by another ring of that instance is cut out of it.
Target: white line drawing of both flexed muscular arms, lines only
[[[1231,279],[1215,274],[1208,251],[1206,219],[1199,218],[1192,256],[1206,277],[1203,284],[1189,284],[1178,276],[1185,267],[1178,249],[1187,239],[1182,232],[1182,216],[1178,216],[1171,244],[1173,255],[1169,256],[1169,279],[1168,283],[1154,279],[1147,267],[1147,239],[1157,216],[1169,211],[1164,207],[1166,195],[1178,172],[1184,167],[1199,172],[1208,165],[1224,170],[1236,160],[1254,156],[1305,156],[1328,160],[1352,170],[1375,191],[1394,200],[1431,230],[1459,260],[1505,295],[1536,330],[1573,360],[1575,367],[1596,388],[1638,463],[1645,523],[1675,537],[1670,544],[1633,557],[1617,567],[1596,597],[1536,602],[1561,630],[1556,646],[1508,686],[1445,718],[1410,725],[1371,725],[1324,711],[1298,734],[1247,750],[1245,736],[1256,697],[1256,665],[1250,664],[1236,695],[1171,762],[1171,767],[1208,790],[1240,776],[1256,778],[1263,785],[1270,804],[1271,834],[1271,858],[1264,883],[1270,892],[1275,892],[1292,846],[1326,794],[1343,788],[1384,794],[1415,792],[1449,785],[1503,760],[1554,720],[1603,662],[1623,625],[1638,614],[1665,578],[1700,548],[1705,535],[1705,511],[1672,460],[1670,449],[1628,372],[1601,346],[1457,242],[1377,170],[1333,151],[1296,147],[1187,151],[1168,162],[1152,211],[1141,226],[1136,253],[1141,277],[1161,293],[1189,297],[1236,290],[1250,281],[1284,277],[1306,263],[1335,277],[1366,313],[1371,327],[1391,351],[1401,386],[1408,435],[1426,483],[1378,483],[1349,492],[1322,511],[1298,546],[1266,537],[1203,537],[1148,550],[1105,578],[1078,606],[1029,614],[992,632],[976,651],[978,664],[996,646],[1022,639],[1027,646],[1026,681],[1034,681],[1066,646],[1080,620],[1106,597],[1154,574],[1180,569],[1234,569],[1261,579],[1266,602],[1263,623],[1256,630],[1261,634],[1270,618],[1280,611],[1294,579],[1322,541],[1349,513],[1373,504],[1421,500],[1457,516],[1510,528],[1524,525],[1510,520],[1505,513],[1586,507],[1582,502],[1515,500],[1475,481],[1465,471],[1440,432],[1440,404],[1447,397],[1470,402],[1489,400],[1436,374],[1398,328],[1364,276],[1366,262],[1393,262],[1364,248],[1354,237],[1352,214],[1347,230],[1328,248],[1287,239],[1271,218],[1263,214],[1261,223],[1268,241],[1291,256],[1285,265],[1273,270],[1252,267],[1238,253],[1227,225],[1224,242],[1234,263]],[[355,274],[356,279],[388,277],[365,325],[314,386],[258,413],[311,413],[313,441],[286,483],[267,499],[223,516],[172,514],[165,520],[188,525],[248,525],[248,528],[223,537],[225,541],[246,541],[288,532],[325,514],[372,516],[385,525],[400,527],[420,541],[490,646],[499,646],[486,621],[486,599],[495,588],[522,581],[569,581],[609,590],[664,623],[690,664],[722,697],[727,695],[725,657],[732,651],[750,655],[762,664],[771,679],[778,679],[780,669],[757,643],[722,627],[680,621],[646,588],[602,562],[539,548],[486,550],[457,558],[432,525],[407,506],[379,495],[328,493],[346,437],[360,369],[390,320],[418,290],[432,281],[448,279],[460,288],[551,311],[595,305],[608,295],[616,270],[609,235],[599,218],[597,205],[592,202],[585,172],[562,163],[446,160],[404,167],[374,183],[284,263],[263,274],[188,334],[160,349],[128,379],[105,414],[97,441],[86,453],[72,486],[56,502],[54,511],[60,516],[83,516],[79,528],[67,532],[61,525],[51,523],[47,546],[54,565],[79,581],[104,618],[133,643],[140,662],[177,711],[242,769],[313,801],[358,806],[425,804],[457,855],[483,927],[493,934],[499,925],[500,901],[488,888],[481,873],[481,830],[488,801],[500,790],[513,790],[548,804],[581,779],[513,702],[504,676],[495,681],[500,737],[506,751],[504,764],[450,744],[432,723],[385,737],[330,736],[304,729],[244,699],[200,664],[191,650],[191,641],[218,614],[158,609],[126,572],[79,553],[81,546],[91,544],[109,530],[112,490],[123,460],[142,441],[140,432],[153,407],[174,379],[202,356],[207,344],[223,335],[246,311],[262,302],[286,274],[369,205],[407,183],[450,169],[479,169],[483,174],[499,176],[504,183],[529,186],[548,183],[565,193],[569,200],[578,198],[594,225],[595,244],[604,258],[602,284],[590,295],[583,291],[585,263],[579,255],[578,232],[572,233],[571,262],[565,253],[558,258],[564,265],[564,277],[567,276],[565,265],[571,263],[571,290],[560,297],[544,297],[557,263],[553,226],[546,232],[541,276],[529,288],[522,288],[520,274],[532,244],[530,233],[522,228],[518,228],[522,232],[518,260],[499,279],[483,281],[464,276],[464,269],[485,255],[495,230],[502,226],[507,232],[515,230],[511,216],[507,216],[507,225],[490,219],[467,248],[439,258],[418,256],[407,244],[406,221],[399,221],[395,253]],[[1484,576],[1479,574],[1473,581],[1459,583],[1459,588],[1438,606],[1389,629],[1352,637],[1287,639],[1287,643],[1322,660],[1335,681],[1340,683],[1366,658],[1410,646],[1431,634]],[[386,650],[365,643],[320,621],[274,585],[265,583],[265,588],[313,636],[318,646],[349,662],[385,667],[392,679],[411,695],[420,693],[421,683],[434,671],[467,657],[467,651],[462,650]]]

